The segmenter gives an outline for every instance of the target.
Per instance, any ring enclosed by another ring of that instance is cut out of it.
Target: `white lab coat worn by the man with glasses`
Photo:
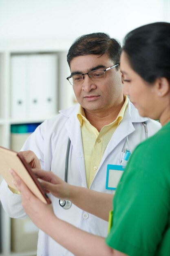
[[[64,180],[66,148],[68,137],[70,137],[68,183],[86,187],[84,153],[77,111],[78,106],[76,105],[67,110],[62,110],[60,111],[60,115],[44,121],[27,139],[22,150],[33,150],[40,159],[42,169],[51,170]],[[143,121],[147,122],[148,137],[161,128],[161,125],[157,121],[140,117],[137,109],[129,102],[123,120],[108,143],[90,189],[104,193],[113,193],[113,191],[105,189],[107,164],[120,164],[119,158],[121,151],[123,148],[127,148],[127,145],[124,146],[127,135],[131,150],[145,139],[144,125],[141,123]],[[66,220],[66,222],[87,232],[106,237],[108,222],[92,214],[84,214],[85,212],[75,205],[72,205],[68,210],[62,209],[58,199],[52,195],[50,197],[53,202],[54,212],[60,219]],[[7,184],[4,181],[0,187],[0,200],[9,216],[13,218],[24,218],[25,213],[20,204],[20,196],[13,194],[7,188]],[[58,245],[40,230],[37,255],[71,256],[73,254]]]

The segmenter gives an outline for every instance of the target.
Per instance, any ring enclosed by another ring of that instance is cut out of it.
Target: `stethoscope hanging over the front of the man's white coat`
[[[147,129],[147,124],[146,122],[142,122],[142,124],[144,125],[145,128],[145,138],[148,139],[148,129]],[[131,149],[130,149],[130,145],[129,145],[129,140],[128,140],[128,136],[126,136],[126,141],[127,142],[128,148],[130,153],[132,153]],[[67,144],[67,150],[66,150],[66,162],[65,162],[65,176],[64,176],[64,181],[67,182],[67,178],[68,178],[68,157],[69,157],[69,152],[70,152],[70,144],[71,144],[71,140],[68,137],[68,144]],[[124,147],[123,147],[124,148]],[[72,202],[69,200],[59,200],[59,204],[63,209],[70,209]]]

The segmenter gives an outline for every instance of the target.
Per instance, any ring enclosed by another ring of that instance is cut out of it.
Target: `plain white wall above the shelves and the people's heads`
[[[103,31],[120,41],[140,25],[170,21],[169,0],[0,0],[0,39],[62,38]],[[169,20],[168,20],[169,19]]]

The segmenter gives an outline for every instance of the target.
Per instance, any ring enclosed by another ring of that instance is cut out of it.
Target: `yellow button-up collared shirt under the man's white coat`
[[[115,132],[117,126],[119,126],[124,117],[124,112],[128,107],[128,97],[124,96],[124,99],[124,105],[122,106],[115,121],[104,126],[100,132],[98,132],[98,130],[86,119],[82,106],[79,107],[77,118],[79,120],[82,132],[82,144],[88,188],[95,177],[97,168],[99,167],[104,151],[106,150],[113,132]]]

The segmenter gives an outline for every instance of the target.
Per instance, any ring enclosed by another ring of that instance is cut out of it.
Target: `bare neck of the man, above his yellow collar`
[[[123,105],[124,99],[117,106],[113,106],[113,108],[108,110],[90,111],[84,109],[84,113],[86,115],[86,119],[91,123],[91,125],[100,132],[105,125],[115,121]]]

